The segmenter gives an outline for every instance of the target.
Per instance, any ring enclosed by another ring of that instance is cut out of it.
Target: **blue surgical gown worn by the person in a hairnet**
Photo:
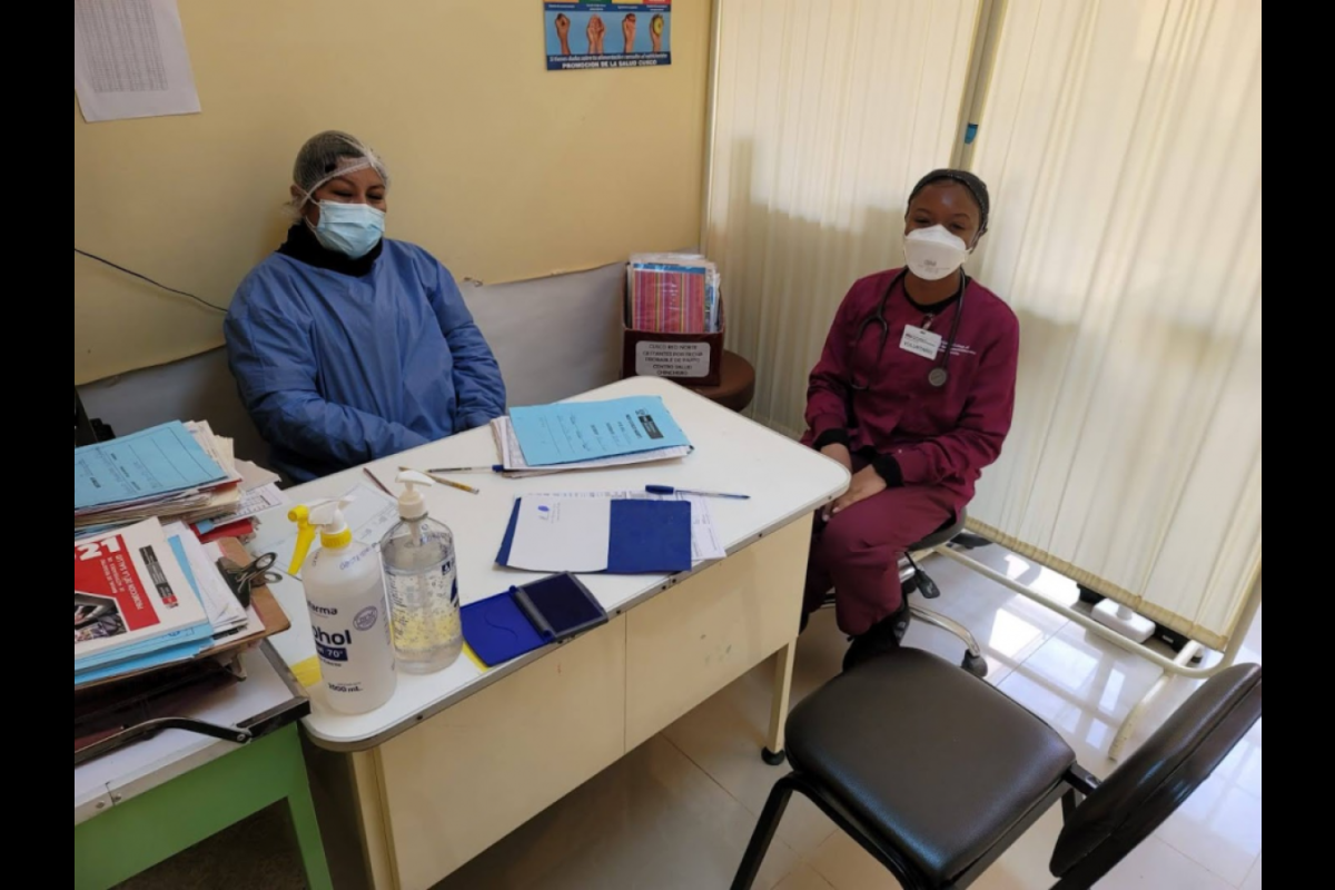
[[[364,278],[275,254],[226,323],[246,408],[275,470],[307,482],[505,414],[491,347],[454,276],[400,242]]]

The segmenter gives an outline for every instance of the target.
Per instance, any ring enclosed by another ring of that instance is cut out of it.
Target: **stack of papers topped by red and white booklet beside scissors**
[[[75,687],[207,655],[264,632],[216,547],[156,519],[75,542]]]

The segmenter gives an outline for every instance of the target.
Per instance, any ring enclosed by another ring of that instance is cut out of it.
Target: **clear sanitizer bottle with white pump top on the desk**
[[[394,650],[403,673],[435,674],[463,651],[454,534],[427,516],[422,490],[435,484],[429,476],[405,471],[399,484],[405,486],[399,498],[403,522],[380,542]]]

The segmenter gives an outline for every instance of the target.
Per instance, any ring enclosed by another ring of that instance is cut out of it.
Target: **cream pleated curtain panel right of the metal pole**
[[[973,168],[1024,326],[973,518],[1222,647],[1262,564],[1260,0],[1009,0]]]

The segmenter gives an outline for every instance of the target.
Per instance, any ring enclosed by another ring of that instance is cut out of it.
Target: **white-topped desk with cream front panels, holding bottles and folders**
[[[696,454],[680,464],[613,472],[478,476],[481,496],[427,492],[431,515],[454,530],[465,604],[533,579],[495,566],[514,498],[525,492],[650,483],[746,492],[753,500],[714,504],[729,558],[678,576],[585,576],[611,615],[606,627],[487,673],[461,659],[434,677],[402,677],[394,699],[366,717],[331,713],[314,690],[304,725],[320,750],[308,759],[318,785],[340,802],[322,821],[328,815],[342,823],[339,835],[359,839],[366,881],[378,890],[434,886],[776,656],[769,745],[784,750],[812,518],[848,488],[849,475],[663,380],[623,380],[581,400],[631,395],[661,395]],[[475,430],[371,470],[390,482],[400,464],[491,463],[491,434]],[[356,470],[291,495],[339,496],[363,482]],[[302,664],[315,652],[300,584],[288,579],[274,592],[292,619],[274,646]]]

